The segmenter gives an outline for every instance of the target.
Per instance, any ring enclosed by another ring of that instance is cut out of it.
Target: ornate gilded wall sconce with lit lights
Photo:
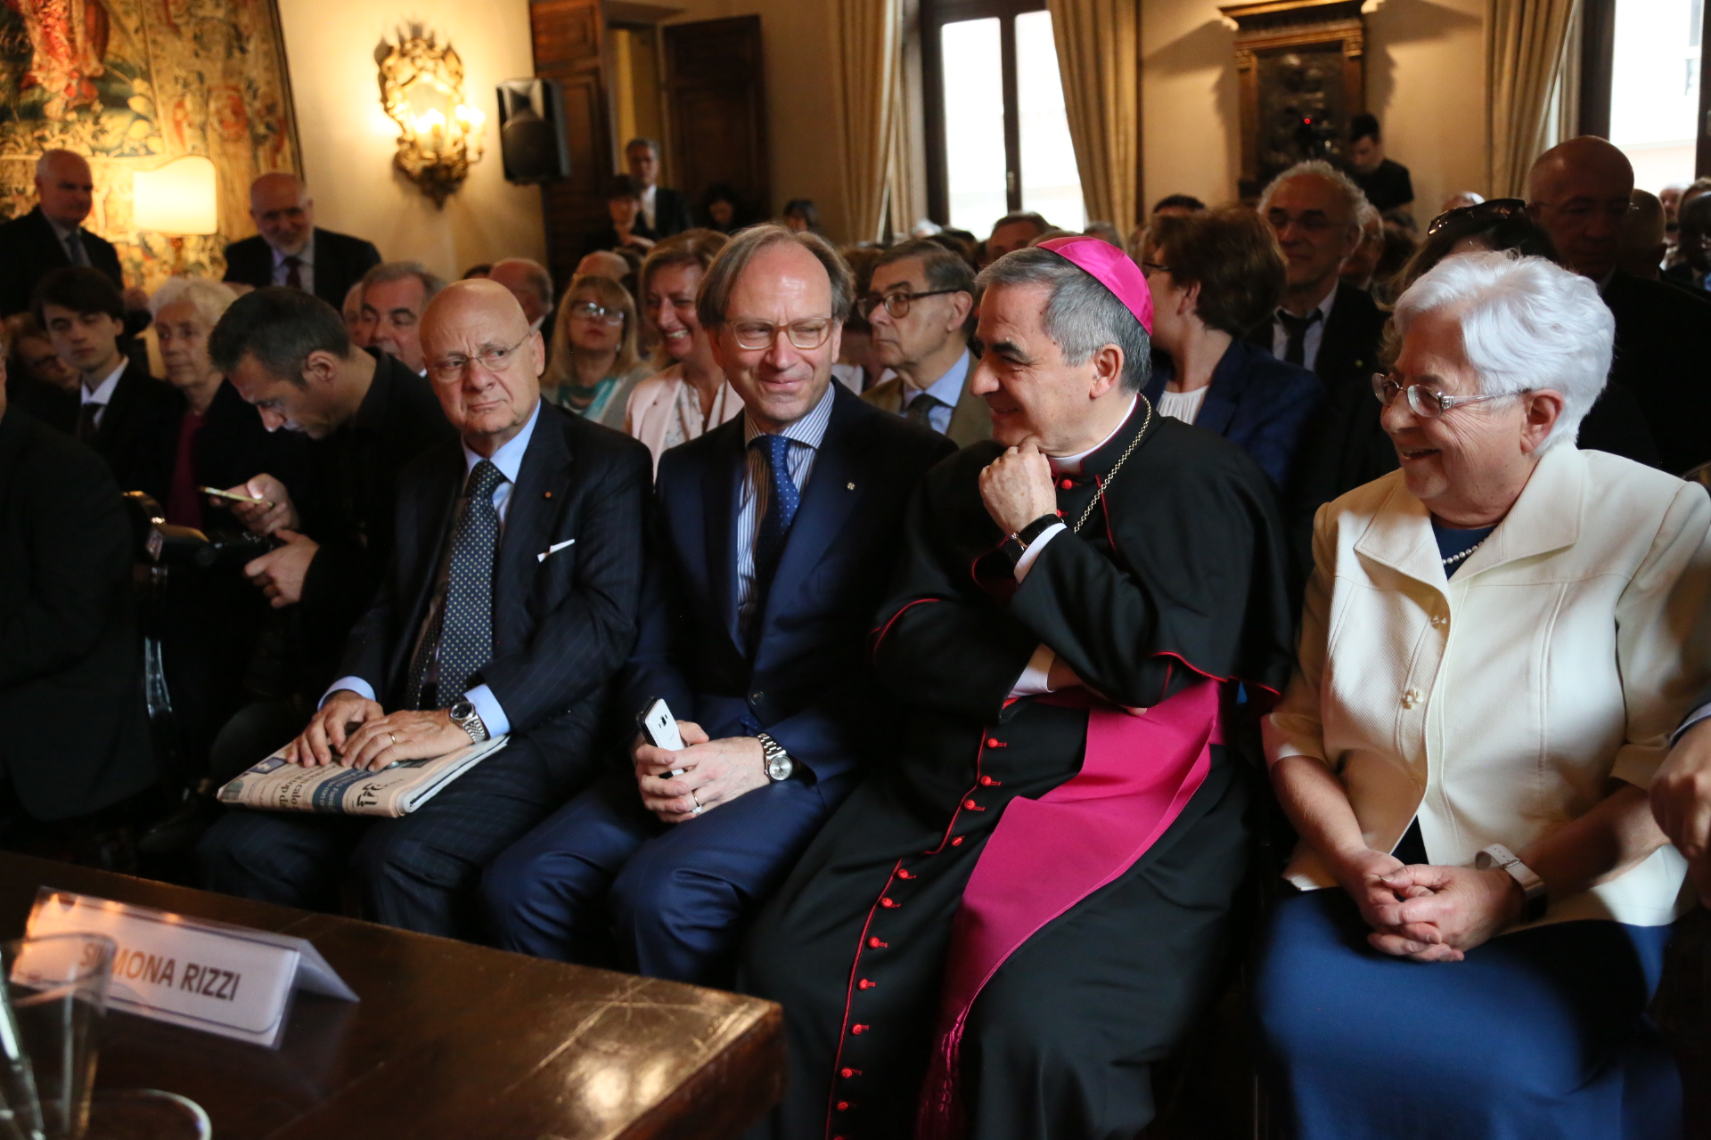
[[[488,116],[464,103],[464,60],[450,43],[435,43],[421,24],[399,31],[399,43],[375,48],[380,65],[380,106],[399,125],[392,159],[436,207],[469,178],[481,161]]]

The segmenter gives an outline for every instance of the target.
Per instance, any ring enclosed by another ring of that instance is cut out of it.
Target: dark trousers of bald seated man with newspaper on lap
[[[512,742],[400,819],[226,814],[197,846],[209,890],[337,911],[354,880],[363,914],[424,935],[484,942],[481,870],[565,802],[541,749]]]

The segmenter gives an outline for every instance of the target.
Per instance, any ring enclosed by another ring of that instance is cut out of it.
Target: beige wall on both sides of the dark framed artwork
[[[1422,220],[1451,193],[1485,190],[1483,12],[1485,0],[1384,0],[1365,17],[1367,109],[1384,125],[1389,156],[1413,174]],[[1235,197],[1234,50],[1215,3],[1141,3],[1148,205],[1167,193]]]

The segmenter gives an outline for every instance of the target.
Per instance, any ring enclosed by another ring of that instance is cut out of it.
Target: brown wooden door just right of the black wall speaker
[[[536,0],[536,75],[565,89],[565,140],[570,178],[541,186],[546,207],[548,268],[563,289],[583,255],[587,236],[607,222],[606,186],[613,176],[611,113],[601,51],[606,17],[601,0]]]

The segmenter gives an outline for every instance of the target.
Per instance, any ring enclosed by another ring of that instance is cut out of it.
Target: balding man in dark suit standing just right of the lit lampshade
[[[375,243],[320,229],[315,198],[296,174],[262,174],[250,185],[253,238],[226,246],[226,280],[262,289],[289,285],[340,308],[351,285],[380,265]]]

